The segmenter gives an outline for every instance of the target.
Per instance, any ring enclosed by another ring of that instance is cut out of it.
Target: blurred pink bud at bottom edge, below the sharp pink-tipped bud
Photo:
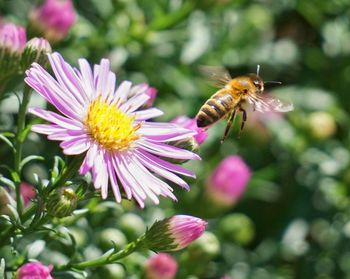
[[[173,279],[176,272],[177,262],[169,254],[156,254],[146,262],[145,273],[147,279]]]

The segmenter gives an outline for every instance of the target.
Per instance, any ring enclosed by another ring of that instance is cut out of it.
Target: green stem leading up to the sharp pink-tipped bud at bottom
[[[131,253],[144,248],[144,245],[143,245],[144,239],[145,239],[145,235],[142,235],[135,241],[130,242],[123,250],[120,250],[117,253],[114,252],[114,249],[111,249],[108,252],[106,252],[104,255],[102,255],[100,258],[85,261],[85,262],[80,262],[80,263],[71,263],[65,266],[64,269],[76,268],[76,269],[82,270],[86,268],[114,263],[122,258],[125,258]]]

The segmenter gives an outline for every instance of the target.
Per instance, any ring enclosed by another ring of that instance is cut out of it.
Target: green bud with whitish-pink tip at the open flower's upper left
[[[33,38],[27,42],[22,59],[22,69],[26,70],[33,62],[37,62],[45,67],[48,64],[47,54],[51,53],[52,49],[50,43],[43,38]]]

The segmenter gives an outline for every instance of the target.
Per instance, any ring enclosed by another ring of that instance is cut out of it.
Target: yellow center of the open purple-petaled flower
[[[141,123],[133,125],[134,119],[98,98],[90,104],[85,124],[90,136],[105,149],[125,150],[140,138],[136,131]]]

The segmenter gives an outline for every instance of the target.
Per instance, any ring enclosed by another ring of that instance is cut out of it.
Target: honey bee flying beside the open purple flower
[[[201,71],[215,82],[220,89],[214,93],[200,108],[196,115],[199,128],[209,128],[222,118],[227,117],[227,125],[223,143],[230,131],[236,114],[242,112],[242,122],[238,137],[247,121],[247,112],[242,107],[244,103],[253,106],[253,110],[260,112],[277,111],[288,112],[293,110],[292,103],[286,103],[280,99],[264,95],[264,85],[268,83],[281,84],[278,81],[263,81],[259,76],[260,65],[257,66],[256,74],[247,74],[232,78],[227,70],[216,67],[202,67]]]

